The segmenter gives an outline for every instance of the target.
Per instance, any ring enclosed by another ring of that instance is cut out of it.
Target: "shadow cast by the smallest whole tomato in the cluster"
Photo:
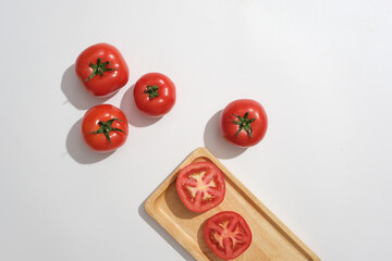
[[[161,120],[162,117],[148,117],[137,109],[133,95],[134,87],[135,85],[132,85],[125,91],[120,103],[120,109],[125,113],[127,122],[135,127],[146,127]]]

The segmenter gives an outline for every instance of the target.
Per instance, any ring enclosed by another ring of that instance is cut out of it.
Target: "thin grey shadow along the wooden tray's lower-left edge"
[[[148,196],[149,197],[149,196]],[[177,253],[180,253],[186,261],[196,261],[195,258],[186,251],[180,243],[177,243],[162,226],[160,226],[146,211],[145,203],[147,199],[138,207],[139,216],[152,228],[155,229]]]

